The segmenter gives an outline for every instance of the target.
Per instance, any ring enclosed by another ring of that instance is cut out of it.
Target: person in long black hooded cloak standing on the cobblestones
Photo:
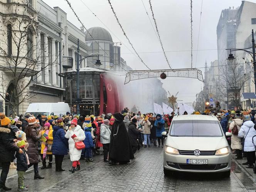
[[[130,139],[123,122],[125,116],[114,113],[115,123],[112,126],[109,145],[109,164],[126,164],[134,159]]]

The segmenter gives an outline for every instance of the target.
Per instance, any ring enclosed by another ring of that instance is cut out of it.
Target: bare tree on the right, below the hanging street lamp
[[[226,102],[229,106],[241,107],[241,90],[251,77],[251,70],[244,69],[243,64],[230,62],[219,66],[219,81],[217,91],[221,97],[220,101]]]

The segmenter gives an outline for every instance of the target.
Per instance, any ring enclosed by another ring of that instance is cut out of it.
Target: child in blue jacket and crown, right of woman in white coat
[[[92,159],[92,149],[93,149],[93,138],[91,136],[91,123],[88,123],[86,127],[84,127],[84,134],[85,134],[85,139],[84,139],[84,145],[85,145],[85,150],[84,150],[84,158],[85,162],[93,162],[94,160]]]

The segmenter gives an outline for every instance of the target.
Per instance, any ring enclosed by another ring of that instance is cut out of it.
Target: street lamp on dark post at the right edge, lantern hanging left
[[[230,54],[229,54],[229,57],[227,58],[229,61],[232,61],[234,60],[234,56],[233,54],[231,53],[232,51],[245,51],[245,52],[248,52],[251,57],[253,57],[253,70],[254,70],[254,86],[255,86],[255,91],[256,91],[256,58],[255,58],[255,42],[254,42],[254,32],[252,30],[252,47],[248,47],[246,49],[226,49],[226,50],[229,50],[230,51]],[[248,49],[253,49],[253,52],[249,51]]]

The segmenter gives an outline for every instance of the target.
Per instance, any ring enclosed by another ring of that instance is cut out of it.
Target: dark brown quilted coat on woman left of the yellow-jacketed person
[[[30,127],[32,126],[32,127]],[[37,130],[35,130],[35,127],[33,125],[29,125],[27,127],[27,129],[31,130],[31,135],[27,134],[27,131],[25,131],[26,133],[26,137],[27,137],[27,142],[29,143],[29,147],[27,148],[27,155],[29,156],[29,163],[39,163],[40,162],[40,158],[39,158],[39,152],[38,152],[38,141],[41,138],[41,135],[37,135]]]

